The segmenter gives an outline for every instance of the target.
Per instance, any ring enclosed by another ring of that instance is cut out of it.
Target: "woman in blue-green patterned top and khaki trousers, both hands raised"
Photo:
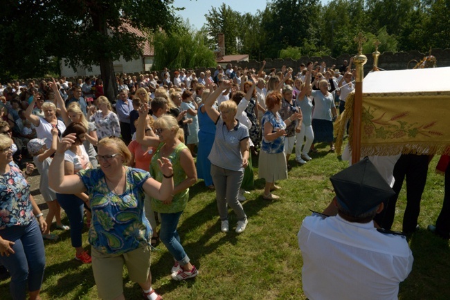
[[[141,285],[145,299],[161,299],[152,289],[150,274],[150,237],[152,228],[144,214],[144,192],[156,199],[167,199],[173,192],[172,164],[159,160],[164,175],[157,182],[147,171],[126,167],[131,158],[119,138],[103,138],[98,142],[99,169],[85,169],[78,174],[64,174],[64,153],[76,143],[74,133],[58,144],[49,174],[51,187],[60,193],[89,194],[92,225],[89,243],[92,270],[99,297],[125,299],[123,265],[130,279]]]

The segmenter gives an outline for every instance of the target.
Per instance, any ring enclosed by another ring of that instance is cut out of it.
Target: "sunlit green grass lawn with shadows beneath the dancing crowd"
[[[247,194],[244,210],[249,217],[245,232],[234,232],[237,222],[230,212],[230,232],[220,232],[215,191],[199,181],[190,189],[190,202],[181,216],[179,233],[199,276],[184,282],[170,278],[172,257],[161,243],[152,252],[153,288],[165,300],[170,299],[305,299],[301,285],[302,257],[297,243],[300,224],[310,214],[321,212],[333,197],[332,174],[348,166],[328,153],[321,144],[313,160],[293,169],[289,179],[278,182],[282,187],[279,200],[262,199],[263,180]],[[258,166],[258,158],[253,159]],[[410,240],[414,255],[413,271],[400,285],[399,299],[450,299],[449,242],[430,232],[426,226],[435,222],[444,195],[444,177],[434,173],[438,158],[433,158],[422,196],[421,229]],[[255,178],[257,178],[255,168]],[[397,202],[394,230],[402,229],[406,192]],[[449,216],[450,217],[450,216]],[[67,223],[67,221],[66,221]],[[46,272],[42,299],[98,299],[90,265],[73,259],[69,232],[61,232],[56,242],[46,241]],[[87,243],[87,230],[83,234]],[[324,266],[326,268],[326,266]],[[343,271],[345,276],[345,271]],[[9,279],[0,281],[0,299],[8,300]],[[141,299],[141,290],[124,272],[125,297]]]

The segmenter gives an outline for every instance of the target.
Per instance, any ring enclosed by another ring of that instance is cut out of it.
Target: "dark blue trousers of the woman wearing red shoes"
[[[66,212],[67,218],[69,218],[72,247],[81,247],[83,245],[81,234],[84,226],[83,200],[75,195],[58,193],[56,193],[56,199]]]

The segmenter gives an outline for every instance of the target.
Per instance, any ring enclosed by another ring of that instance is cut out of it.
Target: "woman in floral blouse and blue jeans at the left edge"
[[[11,274],[12,299],[41,299],[47,224],[30,195],[30,185],[12,161],[12,140],[0,134],[0,263]],[[28,287],[28,289],[27,289]]]

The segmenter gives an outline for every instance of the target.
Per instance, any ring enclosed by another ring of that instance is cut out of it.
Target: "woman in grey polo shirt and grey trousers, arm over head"
[[[249,129],[235,119],[237,105],[232,100],[222,102],[220,112],[213,106],[217,97],[231,88],[231,84],[231,81],[222,82],[205,101],[206,113],[216,124],[213,149],[208,158],[216,191],[220,229],[228,232],[228,204],[237,215],[236,232],[241,233],[249,223],[238,200],[244,169],[249,163]]]

